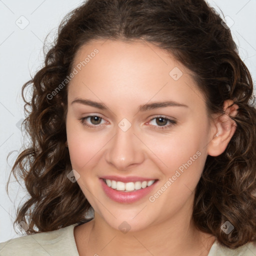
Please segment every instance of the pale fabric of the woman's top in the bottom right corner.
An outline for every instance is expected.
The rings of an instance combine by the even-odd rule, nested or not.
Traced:
[[[212,244],[208,256],[255,256],[256,242],[247,242],[236,249],[230,249],[217,240]]]

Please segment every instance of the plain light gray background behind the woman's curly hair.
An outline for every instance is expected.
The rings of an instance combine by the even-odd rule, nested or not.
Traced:
[[[20,152],[24,118],[21,86],[43,63],[42,43],[53,38],[62,17],[81,0],[0,0],[0,242],[20,236],[13,229],[15,207],[25,191],[16,182],[5,186],[11,166]],[[223,11],[239,54],[256,78],[256,0],[208,0]],[[23,17],[22,17],[23,16]],[[28,23],[29,22],[29,23]],[[26,27],[24,27],[27,24]],[[8,152],[16,150],[6,161]],[[12,179],[13,180],[13,179]]]

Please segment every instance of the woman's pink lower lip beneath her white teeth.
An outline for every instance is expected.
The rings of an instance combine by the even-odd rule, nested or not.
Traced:
[[[116,202],[124,202],[124,203],[135,202],[143,198],[154,188],[155,184],[158,181],[158,180],[154,181],[152,185],[147,186],[145,188],[141,188],[131,192],[124,192],[124,191],[115,190],[109,187],[102,178],[100,178],[99,180],[101,182],[103,190],[105,191],[106,195],[110,199]]]

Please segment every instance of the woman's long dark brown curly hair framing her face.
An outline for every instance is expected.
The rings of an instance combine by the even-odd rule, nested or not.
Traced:
[[[24,221],[26,233],[31,234],[88,220],[90,204],[77,182],[67,178],[72,169],[65,146],[68,82],[56,95],[49,95],[66,79],[75,53],[88,41],[143,39],[173,54],[195,74],[209,114],[223,113],[226,99],[238,105],[237,115],[231,117],[236,130],[225,151],[206,158],[192,221],[230,248],[255,241],[253,83],[230,29],[221,20],[204,0],[88,0],[69,12],[45,54],[44,66],[22,86],[26,114],[22,125],[31,142],[16,158],[11,173],[24,181],[29,198],[19,205],[14,223]],[[24,98],[28,85],[30,101]],[[235,227],[229,234],[220,228],[226,220]]]

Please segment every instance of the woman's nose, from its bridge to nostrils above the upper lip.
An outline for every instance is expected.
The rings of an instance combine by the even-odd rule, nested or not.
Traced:
[[[126,170],[144,160],[143,145],[133,133],[132,126],[126,131],[117,127],[108,146],[105,159],[117,170]]]

